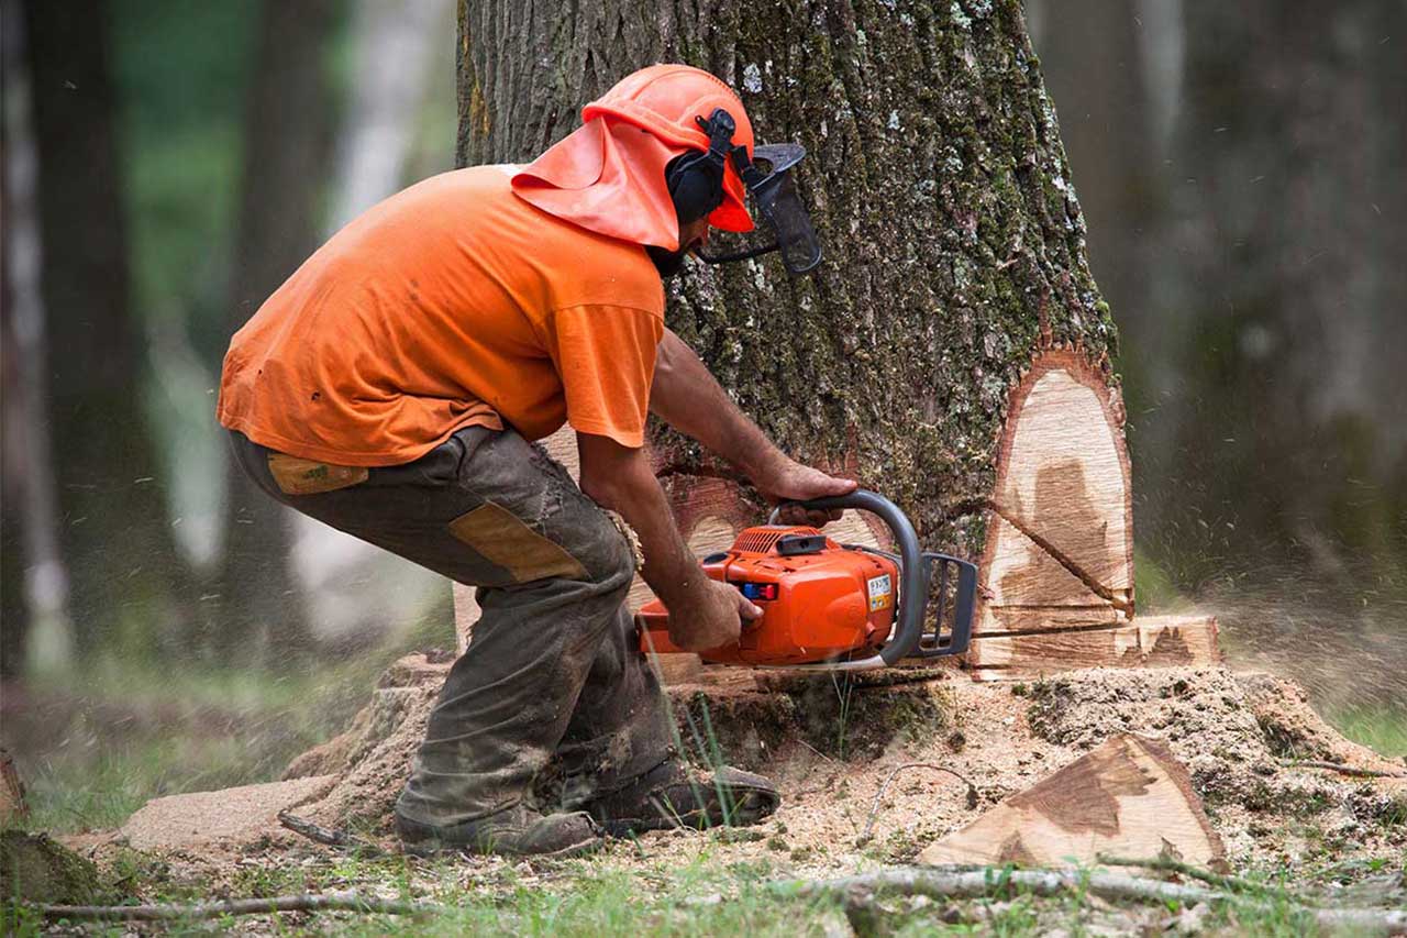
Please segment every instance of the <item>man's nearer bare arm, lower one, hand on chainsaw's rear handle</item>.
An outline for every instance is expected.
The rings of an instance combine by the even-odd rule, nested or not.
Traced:
[[[577,434],[577,449],[581,490],[619,511],[640,538],[642,576],[670,610],[671,641],[689,651],[737,641],[740,617],[757,618],[761,610],[736,589],[708,579],[689,555],[646,451],[595,434]]]

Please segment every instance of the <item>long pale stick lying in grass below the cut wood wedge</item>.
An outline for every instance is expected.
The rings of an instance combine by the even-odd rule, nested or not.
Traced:
[[[929,899],[995,899],[1013,889],[1036,896],[1090,894],[1110,901],[1135,903],[1238,903],[1265,908],[1266,903],[1217,892],[1202,886],[1180,886],[1121,873],[1081,873],[1078,870],[1024,870],[983,868],[978,870],[893,869],[832,880],[791,880],[775,883],[787,896],[839,899],[847,906],[862,906],[867,894],[927,896]],[[1331,928],[1358,928],[1375,934],[1407,930],[1407,908],[1314,908],[1290,903],[1299,914]]]

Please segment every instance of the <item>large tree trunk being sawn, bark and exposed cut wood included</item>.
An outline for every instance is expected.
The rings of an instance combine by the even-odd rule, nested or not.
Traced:
[[[1005,645],[989,659],[978,638],[974,666],[1019,670],[1013,634],[1126,625],[1116,331],[1020,4],[460,3],[460,162],[532,159],[657,61],[713,72],[763,139],[806,145],[826,246],[801,279],[692,268],[670,325],[785,451],[983,561],[979,628]],[[695,548],[763,517],[695,444],[658,427],[650,444]]]

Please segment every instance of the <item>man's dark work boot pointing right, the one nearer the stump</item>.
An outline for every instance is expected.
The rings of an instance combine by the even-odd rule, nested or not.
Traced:
[[[625,787],[585,806],[612,837],[674,827],[744,827],[781,804],[777,786],[732,766],[713,772],[678,759],[660,763]]]

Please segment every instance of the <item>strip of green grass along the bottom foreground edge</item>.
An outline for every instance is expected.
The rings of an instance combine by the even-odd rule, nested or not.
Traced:
[[[644,845],[649,849],[649,844]],[[113,876],[127,876],[141,886],[148,901],[187,903],[208,896],[208,889],[172,880],[163,865],[131,851]],[[253,861],[253,858],[250,858]],[[532,865],[502,861],[414,861],[401,856],[265,858],[246,862],[219,892],[241,897],[355,890],[404,900],[428,900],[439,910],[422,917],[362,915],[356,913],[284,914],[265,917],[170,923],[180,934],[228,930],[274,931],[287,935],[827,935],[846,924],[860,934],[886,935],[1000,935],[1034,937],[1064,934],[1140,934],[1209,931],[1235,935],[1317,934],[1287,892],[1321,892],[1330,883],[1363,876],[1396,875],[1392,865],[1373,861],[1362,869],[1344,865],[1310,869],[1276,868],[1248,875],[1266,889],[1247,897],[1216,903],[1193,913],[1178,903],[1158,906],[1112,904],[1079,889],[1054,897],[1037,897],[1013,887],[999,899],[929,900],[884,897],[851,910],[834,899],[805,899],[778,889],[791,879],[784,859],[729,862],[713,835],[699,841],[691,861],[633,861],[633,848],[619,844],[588,859]],[[1002,870],[993,870],[998,876]],[[1346,877],[1346,879],[1345,879]],[[1400,887],[1399,887],[1400,889]],[[1334,892],[1332,894],[1341,894]],[[1394,892],[1400,896],[1400,892]],[[1355,904],[1379,904],[1355,901]],[[1392,904],[1389,901],[1389,904]],[[0,907],[6,934],[38,935],[41,921],[15,906]],[[848,923],[847,923],[848,918]],[[96,934],[125,934],[111,927]]]

